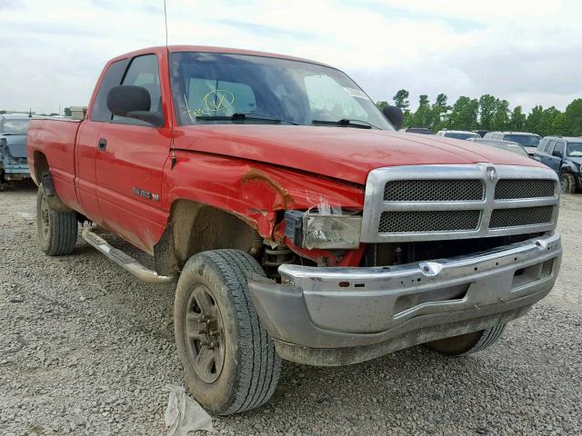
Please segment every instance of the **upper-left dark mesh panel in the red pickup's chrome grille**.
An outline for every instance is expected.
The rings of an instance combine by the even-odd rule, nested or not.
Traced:
[[[480,180],[396,180],[384,186],[385,202],[463,202],[484,197]]]

